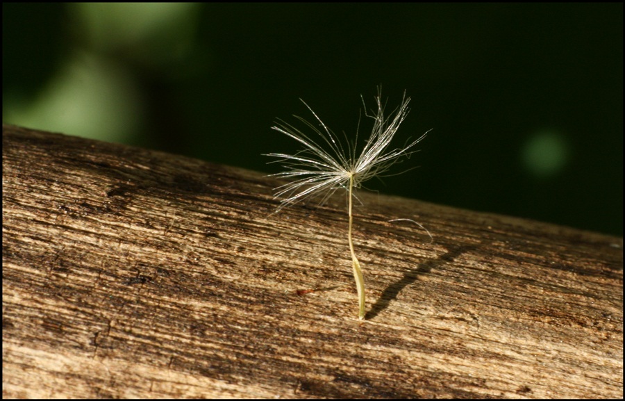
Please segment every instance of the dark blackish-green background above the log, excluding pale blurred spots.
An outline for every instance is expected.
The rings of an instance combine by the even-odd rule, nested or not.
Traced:
[[[5,122],[28,124],[11,108],[91,54],[135,91],[138,124],[115,140],[277,172],[260,154],[297,145],[275,117],[308,118],[302,98],[353,133],[382,84],[389,106],[412,97],[398,145],[433,131],[399,171],[419,168],[367,188],[622,236],[622,3],[206,4],[110,45],[72,7],[3,3]],[[522,155],[545,132],[565,161],[537,174]]]

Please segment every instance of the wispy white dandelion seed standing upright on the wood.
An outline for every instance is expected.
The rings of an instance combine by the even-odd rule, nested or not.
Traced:
[[[362,98],[362,97],[361,97]],[[281,199],[281,203],[276,209],[292,206],[305,199],[321,196],[322,203],[331,197],[338,189],[347,191],[349,226],[347,238],[349,242],[349,252],[353,268],[353,277],[356,280],[356,290],[358,290],[358,318],[365,318],[365,279],[360,270],[360,263],[353,250],[352,227],[353,227],[353,188],[358,188],[361,184],[373,177],[382,177],[392,165],[397,163],[403,156],[410,156],[417,152],[412,148],[425,138],[426,133],[403,147],[396,147],[387,150],[399,124],[408,115],[408,103],[410,97],[406,97],[404,92],[401,104],[390,117],[384,116],[384,105],[382,104],[381,88],[378,88],[376,96],[377,111],[375,115],[365,115],[374,120],[371,136],[365,147],[356,153],[356,141],[358,140],[358,130],[356,130],[356,140],[350,142],[347,138],[341,140],[326,124],[315,114],[312,108],[302,100],[302,103],[313,113],[315,120],[319,123],[312,124],[302,117],[297,120],[302,122],[308,129],[311,129],[315,137],[303,133],[292,124],[278,120],[272,129],[290,136],[303,145],[296,154],[272,153],[266,156],[276,157],[279,160],[270,163],[282,163],[286,168],[285,172],[272,174],[274,177],[294,179],[275,189],[275,197]],[[363,99],[363,104],[365,103]],[[428,233],[429,234],[429,233]]]

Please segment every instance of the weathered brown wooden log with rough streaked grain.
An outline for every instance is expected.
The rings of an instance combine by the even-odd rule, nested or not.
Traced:
[[[15,126],[2,164],[4,397],[622,398],[622,238],[361,194],[360,322],[344,197]]]

